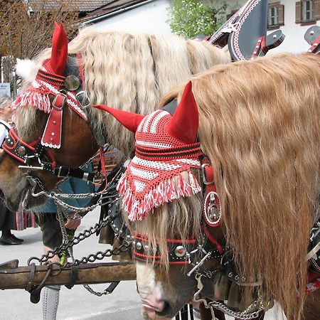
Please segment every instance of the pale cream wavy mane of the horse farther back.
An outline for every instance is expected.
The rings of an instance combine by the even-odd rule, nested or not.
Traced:
[[[228,53],[210,43],[177,36],[146,33],[80,31],[69,43],[68,53],[80,53],[85,73],[85,90],[92,104],[106,104],[122,110],[148,114],[164,93],[179,82],[218,63],[230,60]],[[38,56],[38,65],[50,50]],[[21,113],[21,116],[19,114]],[[18,132],[28,134],[34,112],[17,112]],[[129,154],[134,137],[109,114],[90,108],[93,130]],[[31,121],[30,121],[31,120]]]

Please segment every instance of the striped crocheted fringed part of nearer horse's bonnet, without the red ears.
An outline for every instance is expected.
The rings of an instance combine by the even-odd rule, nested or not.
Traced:
[[[136,156],[127,167],[118,184],[123,196],[122,206],[130,220],[142,220],[154,208],[182,196],[201,191],[191,168],[201,168],[198,154],[173,154],[177,148],[191,150],[193,144],[184,144],[171,137],[166,125],[172,118],[169,112],[157,110],[144,117],[136,132]],[[143,156],[138,150],[153,156]],[[188,172],[188,178],[181,173]]]

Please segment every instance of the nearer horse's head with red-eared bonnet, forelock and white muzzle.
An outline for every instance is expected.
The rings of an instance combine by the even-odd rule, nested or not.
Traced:
[[[218,211],[207,215],[216,225],[215,238],[209,225],[201,223],[203,188],[198,179],[203,153],[197,141],[198,107],[191,87],[188,82],[178,106],[172,107],[174,100],[171,107],[146,117],[95,105],[135,133],[136,155],[118,188],[124,210],[135,224],[137,284],[149,316],[154,312],[174,316],[197,287],[193,274],[187,275],[193,273],[196,261],[206,256],[203,267],[209,272],[220,268],[223,256],[220,216],[212,218]],[[210,203],[216,204],[218,198],[212,194]],[[177,206],[171,206],[173,201]],[[207,235],[211,242],[205,240]],[[206,291],[212,294],[209,288]]]

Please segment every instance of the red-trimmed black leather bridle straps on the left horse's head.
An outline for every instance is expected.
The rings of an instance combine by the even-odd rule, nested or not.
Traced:
[[[94,174],[92,173],[88,173],[79,168],[73,169],[69,166],[57,166],[55,158],[50,151],[51,148],[59,149],[61,146],[63,107],[65,107],[65,105],[68,105],[68,107],[74,110],[80,117],[82,117],[82,119],[85,119],[87,122],[87,117],[85,117],[85,114],[82,114],[83,112],[79,112],[77,110],[77,108],[81,110],[81,108],[87,107],[87,105],[82,105],[80,101],[78,101],[78,95],[81,95],[81,99],[83,100],[82,95],[85,92],[82,90],[83,70],[80,63],[80,55],[77,55],[77,60],[78,74],[80,76],[80,89],[77,90],[78,93],[75,92],[75,95],[65,88],[65,80],[68,77],[55,75],[54,73],[50,73],[45,70],[38,70],[38,80],[48,83],[48,85],[52,86],[53,88],[60,88],[60,90],[56,90],[57,93],[55,94],[42,137],[39,137],[39,139],[34,142],[23,142],[23,140],[18,137],[18,134],[16,134],[14,127],[11,127],[9,134],[1,147],[7,154],[13,156],[14,159],[24,164],[19,166],[20,168],[30,170],[46,170],[50,171],[59,178],[71,176],[93,182]],[[72,71],[75,72],[74,70]],[[46,91],[46,89],[43,90]],[[39,95],[41,95],[41,93],[39,93]],[[73,97],[75,97],[75,99],[73,99]],[[68,99],[73,99],[70,100],[70,104],[68,103]],[[103,154],[103,152],[100,154]],[[100,159],[103,161],[101,156]],[[36,166],[33,165],[35,160],[38,161],[38,165]],[[102,164],[102,168],[103,167],[104,166]]]

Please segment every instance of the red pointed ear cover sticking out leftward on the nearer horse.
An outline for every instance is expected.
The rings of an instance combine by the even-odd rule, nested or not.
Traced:
[[[109,107],[107,105],[93,105],[92,107],[109,112],[124,127],[126,127],[128,130],[130,130],[132,132],[137,131],[140,122],[142,122],[142,119],[144,119],[144,116],[142,114],[137,114],[134,112],[128,112],[128,111],[124,111],[124,110],[114,109],[114,108]]]

